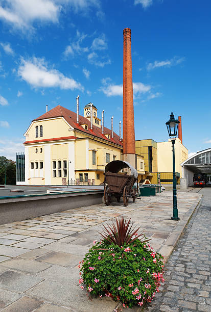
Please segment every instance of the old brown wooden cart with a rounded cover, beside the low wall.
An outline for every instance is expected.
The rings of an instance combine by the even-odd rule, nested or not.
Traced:
[[[128,172],[120,172],[124,168],[129,168]],[[135,181],[137,180],[137,171],[127,162],[113,161],[105,167],[105,179],[104,179],[104,200],[108,206],[111,203],[111,196],[115,196],[117,201],[120,201],[123,196],[124,205],[128,205],[129,197],[132,197],[135,202],[136,189],[133,188]]]

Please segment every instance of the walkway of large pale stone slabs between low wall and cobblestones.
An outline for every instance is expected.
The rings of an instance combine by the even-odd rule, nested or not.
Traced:
[[[131,218],[151,245],[166,258],[173,250],[200,194],[178,193],[180,221],[172,221],[172,192],[82,207],[0,226],[0,309],[26,311],[110,312],[117,303],[93,299],[79,288],[79,261],[102,224],[115,217]]]

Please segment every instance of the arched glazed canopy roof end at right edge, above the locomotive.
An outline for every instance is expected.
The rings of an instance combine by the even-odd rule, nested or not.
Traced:
[[[211,148],[197,152],[181,166],[196,173],[211,173]]]

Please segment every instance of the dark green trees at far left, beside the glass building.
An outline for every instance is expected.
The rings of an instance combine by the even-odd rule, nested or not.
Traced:
[[[0,156],[0,184],[16,184],[16,163],[5,156]]]

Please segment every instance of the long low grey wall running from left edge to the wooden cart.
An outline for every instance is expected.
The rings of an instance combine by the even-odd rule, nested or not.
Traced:
[[[102,191],[0,198],[0,224],[102,203]]]

